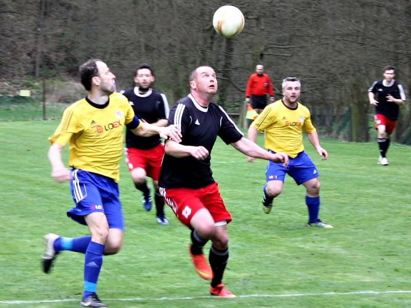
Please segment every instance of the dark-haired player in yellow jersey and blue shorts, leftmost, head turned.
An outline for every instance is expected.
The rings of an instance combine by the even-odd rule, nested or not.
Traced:
[[[103,254],[120,251],[123,242],[123,214],[119,199],[119,162],[123,150],[124,126],[142,137],[160,134],[180,142],[176,125],[154,126],[140,121],[128,100],[115,93],[115,75],[98,59],[80,66],[81,82],[88,91],[85,99],[70,105],[49,138],[51,176],[58,182],[71,181],[76,206],[67,211],[71,219],[87,225],[91,236],[78,238],[47,234],[43,271],[49,273],[55,257],[64,250],[85,254],[84,293],[80,302],[87,307],[105,307],[96,288]],[[67,169],[61,151],[69,142]]]

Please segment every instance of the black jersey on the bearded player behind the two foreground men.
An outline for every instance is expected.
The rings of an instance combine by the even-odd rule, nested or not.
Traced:
[[[160,119],[169,118],[169,103],[163,93],[150,88],[146,93],[140,94],[137,87],[120,93],[128,99],[139,119],[154,123]],[[160,144],[158,134],[151,137],[140,137],[129,129],[126,131],[125,139],[127,148],[151,149]]]

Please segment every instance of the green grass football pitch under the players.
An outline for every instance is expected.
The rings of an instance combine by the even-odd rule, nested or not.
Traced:
[[[0,307],[73,307],[81,297],[83,255],[63,252],[49,275],[40,268],[44,234],[88,234],[65,215],[72,206],[69,184],[49,175],[47,137],[57,125],[0,122]],[[169,208],[169,226],[143,210],[122,162],[125,242],[118,255],[104,258],[100,298],[121,308],[411,306],[411,148],[391,145],[390,164],[380,166],[375,142],[322,144],[328,161],[308,143],[307,150],[321,174],[321,218],[333,229],[304,227],[304,188],[291,178],[272,213],[264,214],[266,163],[247,163],[232,147],[216,144],[214,176],[233,215],[223,280],[234,299],[209,296],[187,253],[189,230]]]

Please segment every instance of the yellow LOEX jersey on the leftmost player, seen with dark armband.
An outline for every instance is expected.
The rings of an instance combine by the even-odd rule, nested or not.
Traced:
[[[118,182],[123,129],[133,119],[133,108],[122,94],[110,94],[105,105],[83,99],[67,107],[60,125],[48,140],[62,146],[70,142],[71,167]],[[141,125],[142,122],[138,127]]]

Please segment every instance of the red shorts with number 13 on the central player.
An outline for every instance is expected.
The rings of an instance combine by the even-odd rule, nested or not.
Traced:
[[[198,189],[160,187],[160,193],[178,220],[188,227],[191,227],[191,219],[201,208],[207,208],[215,222],[225,220],[229,223],[232,220],[216,182]]]

